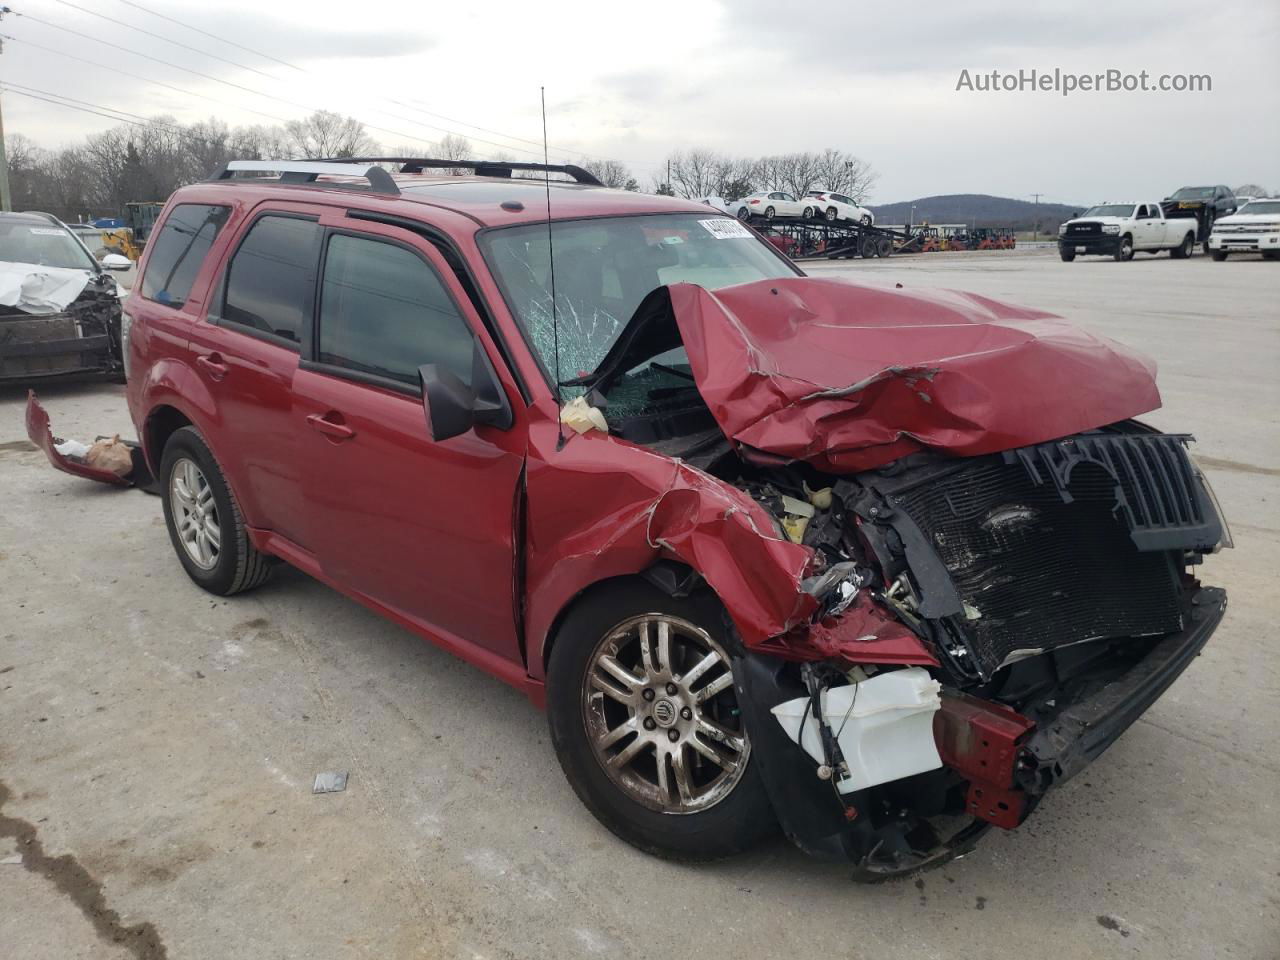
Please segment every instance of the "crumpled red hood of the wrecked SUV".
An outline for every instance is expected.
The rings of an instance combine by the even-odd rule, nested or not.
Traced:
[[[664,289],[703,399],[758,462],[993,453],[1160,406],[1140,353],[972,293],[800,276]]]

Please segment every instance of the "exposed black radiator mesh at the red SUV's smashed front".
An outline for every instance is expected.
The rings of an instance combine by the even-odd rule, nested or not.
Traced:
[[[980,457],[895,497],[968,605],[987,675],[1015,650],[1181,628],[1171,557],[1134,544],[1115,479],[1079,462],[1066,489],[1069,502],[1023,463]]]

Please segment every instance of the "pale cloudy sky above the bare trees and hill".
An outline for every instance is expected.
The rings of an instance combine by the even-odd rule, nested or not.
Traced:
[[[54,147],[115,125],[24,90],[232,125],[328,109],[388,146],[457,133],[477,156],[538,160],[544,86],[553,161],[618,160],[644,184],[675,150],[837,147],[879,173],[873,202],[1280,191],[1276,0],[138,3],[10,0],[0,83],[20,88],[3,93],[5,132]],[[1208,74],[1212,88],[957,90],[964,70],[978,86],[1032,69]]]

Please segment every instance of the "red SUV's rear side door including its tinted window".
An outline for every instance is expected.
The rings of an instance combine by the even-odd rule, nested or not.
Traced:
[[[251,526],[310,549],[293,378],[308,346],[324,207],[271,202],[246,218],[191,351],[216,404],[214,452]]]

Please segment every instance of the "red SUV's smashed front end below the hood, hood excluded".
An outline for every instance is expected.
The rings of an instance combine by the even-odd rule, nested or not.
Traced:
[[[1189,573],[1224,526],[1188,439],[1128,421],[984,457],[915,454],[836,480],[803,530],[781,493],[809,489],[801,467],[739,477],[819,567],[856,571],[842,614],[736,664],[803,849],[864,878],[955,856],[1021,823],[1185,669],[1226,605]],[[911,641],[936,659],[895,655]],[[778,655],[814,648],[822,659]]]

